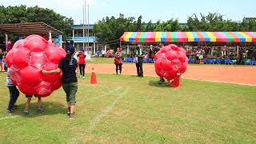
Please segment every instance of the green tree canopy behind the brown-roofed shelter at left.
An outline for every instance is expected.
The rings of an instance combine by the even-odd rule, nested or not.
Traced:
[[[0,23],[24,23],[24,22],[45,22],[54,28],[61,30],[63,38],[69,38],[72,34],[71,26],[74,24],[72,18],[66,18],[57,14],[54,10],[40,8],[38,6],[0,6]]]

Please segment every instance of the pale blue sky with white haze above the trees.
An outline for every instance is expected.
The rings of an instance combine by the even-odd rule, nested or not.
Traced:
[[[53,9],[66,17],[72,17],[74,24],[82,23],[84,0],[0,0],[3,6],[39,6]],[[224,18],[242,21],[244,17],[256,17],[256,0],[86,0],[90,6],[89,22],[93,24],[106,16],[125,17],[142,15],[142,21],[166,21],[178,18],[186,22],[192,14],[218,12]]]

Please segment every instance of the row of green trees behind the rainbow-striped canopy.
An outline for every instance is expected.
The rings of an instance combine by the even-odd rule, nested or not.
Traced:
[[[146,23],[142,21],[142,16],[136,20],[134,17],[125,18],[124,14],[120,14],[119,18],[112,16],[98,21],[94,26],[94,32],[98,42],[107,43],[118,40],[126,31],[256,31],[256,19],[244,18],[242,22],[233,22],[223,17],[218,13],[199,16],[192,14],[185,24],[174,18],[166,22],[159,20],[156,23]]]

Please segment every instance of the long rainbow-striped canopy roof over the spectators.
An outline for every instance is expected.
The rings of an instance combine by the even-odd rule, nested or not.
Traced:
[[[125,32],[121,42],[256,42],[256,32]]]

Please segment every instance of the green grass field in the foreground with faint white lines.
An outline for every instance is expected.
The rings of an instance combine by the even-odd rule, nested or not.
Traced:
[[[256,87],[182,80],[182,88],[158,86],[157,78],[98,74],[79,79],[76,118],[66,116],[62,89],[34,98],[30,116],[6,114],[6,74],[0,74],[0,143],[255,143]]]

